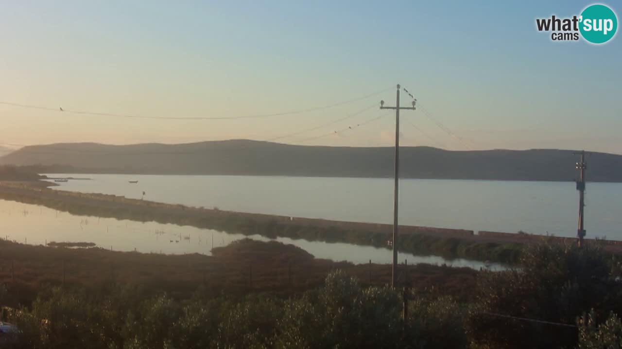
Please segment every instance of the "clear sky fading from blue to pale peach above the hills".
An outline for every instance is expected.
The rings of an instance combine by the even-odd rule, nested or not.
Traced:
[[[621,3],[604,3],[620,19]],[[0,104],[0,145],[391,146],[379,101],[394,106],[401,84],[417,98],[402,145],[622,154],[620,34],[590,45],[536,30],[589,4],[0,0],[0,102],[52,109]],[[306,112],[156,119],[290,111]]]

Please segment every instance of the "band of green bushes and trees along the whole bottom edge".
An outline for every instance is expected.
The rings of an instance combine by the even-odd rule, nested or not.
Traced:
[[[433,293],[412,294],[406,321],[401,291],[363,287],[342,271],[331,273],[323,287],[289,299],[274,294],[208,297],[202,288],[191,299],[153,296],[119,285],[98,294],[52,288],[11,315],[20,331],[2,345],[620,349],[621,270],[597,245],[538,243],[526,249],[518,268],[481,273],[470,303]],[[13,302],[0,288],[0,305]]]

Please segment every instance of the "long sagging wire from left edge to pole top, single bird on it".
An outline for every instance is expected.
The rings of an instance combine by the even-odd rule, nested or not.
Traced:
[[[355,99],[349,99],[347,101],[341,101],[333,104],[328,104],[326,106],[318,106],[312,107],[309,109],[300,109],[296,111],[287,111],[287,112],[276,112],[271,114],[257,114],[257,115],[248,115],[248,116],[233,116],[233,117],[157,117],[157,116],[139,116],[139,115],[131,115],[131,114],[112,114],[105,112],[91,112],[91,111],[74,111],[70,109],[64,109],[62,107],[44,107],[44,106],[33,106],[29,104],[19,104],[14,102],[1,102],[0,104],[4,104],[6,106],[14,106],[14,107],[22,107],[29,109],[40,109],[45,111],[54,111],[59,113],[69,113],[69,114],[79,114],[79,115],[90,115],[90,116],[111,116],[111,117],[125,117],[125,118],[134,118],[134,119],[154,119],[154,120],[238,120],[238,119],[254,119],[258,117],[271,117],[271,116],[285,116],[292,114],[302,114],[305,112],[312,111],[320,111],[323,109],[328,109],[332,107],[343,106],[344,104],[349,104],[352,102],[362,101],[363,99],[367,99],[369,97],[376,96],[378,94],[384,93],[391,88],[382,89],[381,91],[376,91],[374,93],[366,94],[363,97],[357,97]]]

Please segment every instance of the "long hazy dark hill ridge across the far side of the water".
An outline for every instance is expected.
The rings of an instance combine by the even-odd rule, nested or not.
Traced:
[[[186,144],[58,143],[24,147],[0,164],[65,173],[391,177],[392,147],[309,147],[252,140]],[[573,181],[570,150],[448,151],[401,148],[402,178]],[[622,155],[592,153],[588,181],[622,182]]]

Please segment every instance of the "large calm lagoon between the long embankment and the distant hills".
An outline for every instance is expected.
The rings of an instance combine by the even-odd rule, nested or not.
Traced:
[[[50,174],[92,178],[57,189],[115,194],[230,211],[392,222],[392,179],[270,176]],[[138,180],[137,184],[128,181]],[[578,193],[572,182],[402,179],[400,223],[573,237]],[[622,240],[622,183],[588,183],[588,237]]]

